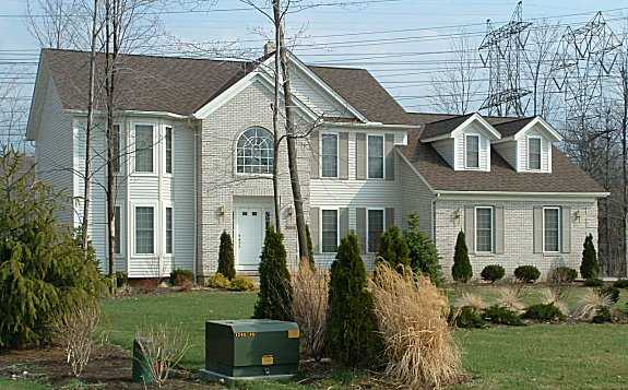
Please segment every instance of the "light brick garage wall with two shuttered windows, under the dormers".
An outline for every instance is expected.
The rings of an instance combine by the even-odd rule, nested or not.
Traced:
[[[582,244],[586,235],[592,234],[597,247],[597,203],[592,202],[547,202],[533,201],[438,201],[436,209],[437,233],[436,244],[441,256],[443,275],[451,279],[453,252],[458,233],[464,228],[464,206],[469,204],[503,206],[503,241],[502,255],[471,253],[473,277],[479,277],[484,267],[500,264],[506,269],[506,277],[511,276],[519,265],[532,264],[542,272],[541,280],[547,280],[549,271],[557,267],[570,267],[579,270],[582,261]],[[535,205],[571,208],[571,251],[569,253],[534,253],[533,250],[533,208]],[[461,215],[454,217],[457,210]],[[573,212],[580,210],[580,220],[573,217]],[[472,243],[466,243],[471,248]]]

